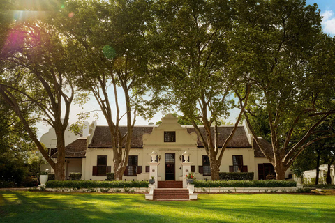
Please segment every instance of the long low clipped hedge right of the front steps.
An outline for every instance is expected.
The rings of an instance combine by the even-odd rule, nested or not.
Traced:
[[[211,181],[194,180],[194,187],[296,187],[295,181],[289,180],[229,180]]]

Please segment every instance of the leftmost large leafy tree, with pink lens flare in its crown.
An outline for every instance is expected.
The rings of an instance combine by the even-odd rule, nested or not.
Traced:
[[[70,52],[47,19],[44,16],[19,17],[3,27],[7,36],[3,38],[5,43],[1,43],[0,94],[54,169],[55,178],[64,180],[64,132],[74,98],[75,75],[68,59]],[[44,121],[54,128],[57,162],[51,159],[43,144],[38,141],[34,131],[36,120]]]

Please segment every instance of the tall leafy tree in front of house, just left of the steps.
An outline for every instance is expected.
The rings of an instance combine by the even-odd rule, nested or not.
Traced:
[[[73,47],[77,84],[94,95],[106,118],[117,180],[122,179],[128,164],[137,115],[151,116],[156,108],[153,104],[147,107],[144,98],[150,79],[151,50],[147,38],[153,21],[150,4],[142,0],[69,1],[61,10],[64,17],[55,21]],[[70,18],[69,13],[73,15]],[[124,114],[122,105],[126,108]],[[126,133],[119,130],[122,118],[126,118]]]

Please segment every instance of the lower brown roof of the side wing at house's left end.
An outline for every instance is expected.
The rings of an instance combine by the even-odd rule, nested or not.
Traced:
[[[65,157],[66,158],[84,158],[86,154],[86,138],[76,139],[72,143],[65,146]],[[57,153],[52,155],[52,158],[57,158]]]

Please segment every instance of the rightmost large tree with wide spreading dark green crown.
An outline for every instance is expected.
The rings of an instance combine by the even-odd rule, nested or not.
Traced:
[[[305,148],[334,137],[311,138],[335,111],[334,39],[321,33],[320,22],[318,7],[305,1],[237,1],[230,55],[241,61],[234,70],[250,73],[256,83],[244,116],[278,180]],[[258,107],[268,116],[274,157],[251,123]]]

